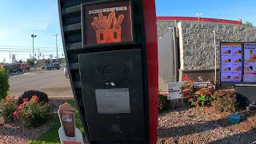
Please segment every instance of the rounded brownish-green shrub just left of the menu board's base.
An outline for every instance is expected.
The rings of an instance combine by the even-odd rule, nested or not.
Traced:
[[[236,108],[234,90],[217,90],[212,98],[212,106],[218,111],[234,111]]]

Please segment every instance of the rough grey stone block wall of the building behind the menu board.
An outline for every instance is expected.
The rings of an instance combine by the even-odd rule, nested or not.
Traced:
[[[254,27],[218,22],[179,22],[179,46],[182,70],[214,69],[214,33],[218,49],[220,42],[256,42]]]

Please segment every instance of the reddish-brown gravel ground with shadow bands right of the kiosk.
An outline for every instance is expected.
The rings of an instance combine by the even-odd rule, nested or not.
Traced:
[[[242,122],[231,125],[230,113],[213,107],[178,108],[158,117],[158,144],[253,143],[256,141],[255,111],[241,111]]]

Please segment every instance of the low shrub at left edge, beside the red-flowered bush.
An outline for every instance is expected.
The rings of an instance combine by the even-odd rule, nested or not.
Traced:
[[[0,102],[0,115],[3,122],[12,122],[14,120],[14,110],[16,109],[17,101],[12,97],[6,97]]]

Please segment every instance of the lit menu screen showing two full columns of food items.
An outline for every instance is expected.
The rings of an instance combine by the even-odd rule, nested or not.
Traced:
[[[221,82],[242,82],[242,43],[222,43],[221,60]]]

